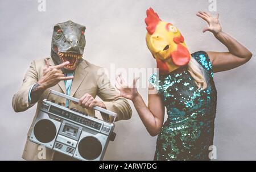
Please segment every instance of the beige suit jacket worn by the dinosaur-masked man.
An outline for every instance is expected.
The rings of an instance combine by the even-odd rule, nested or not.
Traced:
[[[55,64],[52,61],[52,58],[47,58],[49,64],[54,66]],[[15,112],[26,111],[28,108],[34,106],[34,104],[28,103],[28,92],[30,87],[34,85],[43,75],[43,69],[45,68],[46,63],[44,59],[34,60],[31,62],[30,68],[27,70],[25,77],[23,79],[22,86],[20,86],[18,92],[13,97],[13,108]],[[77,66],[74,78],[71,86],[71,96],[75,98],[81,98],[82,95],[88,93],[94,98],[96,95],[100,97],[105,104],[106,108],[110,111],[117,113],[117,120],[130,119],[131,118],[131,107],[129,103],[124,98],[114,99],[114,96],[118,92],[110,85],[108,77],[105,74],[101,73],[102,68],[90,64],[86,60],[82,60],[81,63]],[[27,136],[30,137],[32,132],[32,126],[34,126],[36,116],[39,113],[42,100],[47,98],[49,90],[56,90],[61,93],[66,93],[65,82],[60,81],[57,85],[44,91],[42,97],[38,101],[36,108],[35,116],[30,126],[30,129],[27,133]],[[62,103],[65,105],[65,99],[51,95],[48,97],[49,100],[55,100],[55,102]],[[79,111],[85,112],[91,116],[95,115],[94,110],[88,110],[82,108],[81,106],[70,102],[69,108],[76,108]],[[104,117],[104,116],[102,116]],[[105,118],[105,117],[104,117]],[[52,160],[54,151],[48,148],[42,148],[42,146],[31,142],[27,137],[26,145],[23,151],[22,158],[24,160]],[[45,150],[44,155],[42,151]]]

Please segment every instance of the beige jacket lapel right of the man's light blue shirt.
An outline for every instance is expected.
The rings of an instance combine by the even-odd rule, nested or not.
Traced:
[[[77,89],[81,85],[81,82],[84,81],[84,78],[88,74],[88,72],[85,70],[87,66],[88,64],[86,64],[85,60],[82,60],[77,66],[71,86],[71,97],[73,97],[73,95],[76,93]]]

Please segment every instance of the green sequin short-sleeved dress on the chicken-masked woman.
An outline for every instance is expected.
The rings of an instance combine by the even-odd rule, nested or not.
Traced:
[[[200,51],[192,57],[204,70],[207,89],[197,90],[187,66],[159,77],[155,73],[150,78],[151,85],[162,96],[168,114],[156,141],[154,160],[209,160],[217,91],[208,54]]]

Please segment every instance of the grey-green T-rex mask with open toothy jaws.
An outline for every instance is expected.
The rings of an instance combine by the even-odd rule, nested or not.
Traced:
[[[71,73],[76,69],[84,53],[85,26],[68,20],[58,23],[53,28],[51,57],[55,65],[69,61],[63,69],[65,73]]]

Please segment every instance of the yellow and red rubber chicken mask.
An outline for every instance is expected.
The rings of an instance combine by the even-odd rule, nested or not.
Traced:
[[[185,66],[191,59],[184,37],[171,23],[162,22],[153,9],[147,10],[146,42],[154,56],[160,74],[168,74],[172,70]]]

